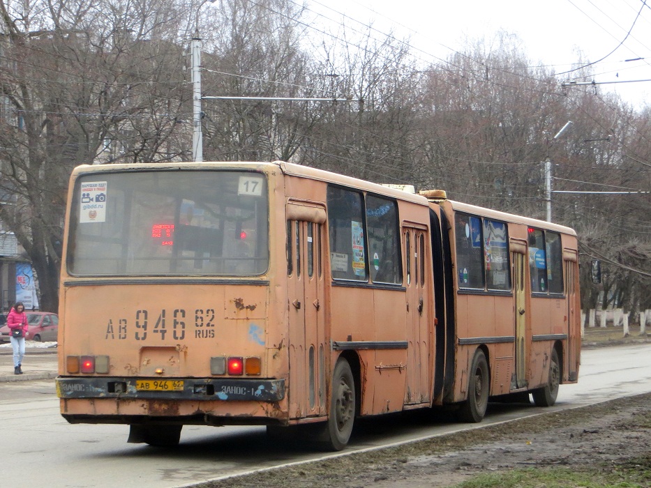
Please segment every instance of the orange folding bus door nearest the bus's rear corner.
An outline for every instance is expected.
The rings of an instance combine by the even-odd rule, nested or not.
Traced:
[[[326,413],[322,224],[287,220],[290,415]]]

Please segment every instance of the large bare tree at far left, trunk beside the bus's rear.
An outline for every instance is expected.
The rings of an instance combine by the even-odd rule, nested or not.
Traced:
[[[36,270],[44,310],[58,307],[72,168],[189,148],[178,136],[190,14],[172,0],[0,0],[0,185],[15,197],[0,219]]]

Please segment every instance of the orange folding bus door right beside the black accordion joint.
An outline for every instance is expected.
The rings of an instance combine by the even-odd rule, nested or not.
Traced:
[[[426,227],[403,227],[405,284],[407,288],[407,385],[405,404],[428,401],[429,367],[425,262],[430,243]]]

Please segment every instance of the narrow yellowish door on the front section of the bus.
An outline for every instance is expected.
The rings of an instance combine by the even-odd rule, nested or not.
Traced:
[[[525,249],[526,249],[526,245]],[[514,243],[511,241],[511,250],[514,249]],[[513,379],[511,379],[511,389],[525,388],[527,386],[527,304],[525,283],[526,269],[528,265],[525,255],[521,252],[511,252],[513,261],[513,288],[516,296],[515,301],[515,358],[516,367]]]

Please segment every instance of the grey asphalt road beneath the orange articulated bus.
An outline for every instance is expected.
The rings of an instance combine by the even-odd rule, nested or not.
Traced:
[[[36,363],[35,363],[36,365]],[[651,391],[651,345],[582,351],[580,381],[561,386],[553,410]],[[481,425],[550,409],[491,404]],[[477,428],[422,412],[360,422],[347,452]],[[0,383],[3,486],[179,487],[285,463],[328,457],[267,441],[263,427],[184,427],[176,450],[127,444],[125,425],[69,425],[52,379]],[[338,454],[342,455],[342,454]],[[21,463],[13,460],[20,457]]]

